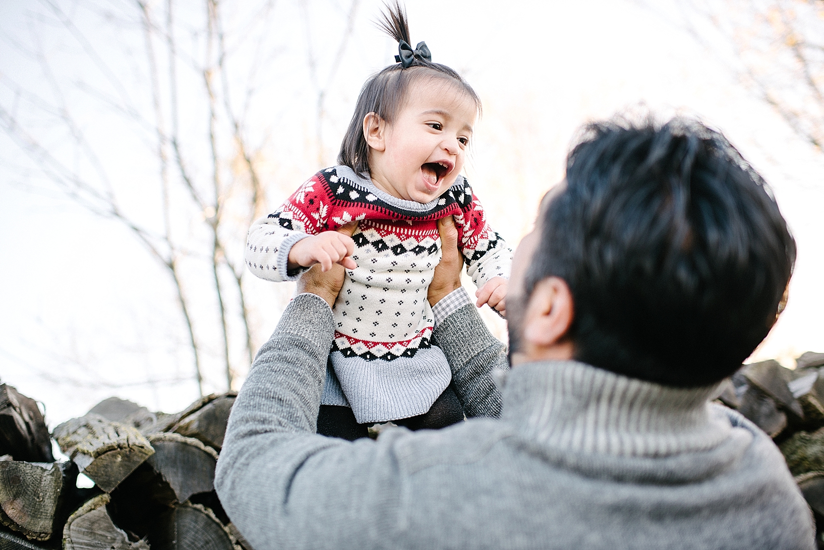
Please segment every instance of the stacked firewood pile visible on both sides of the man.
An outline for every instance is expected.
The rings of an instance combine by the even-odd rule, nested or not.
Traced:
[[[0,550],[251,550],[214,491],[235,397],[177,414],[110,398],[49,435],[37,403],[0,385]],[[779,445],[824,548],[824,353],[804,353],[795,370],[744,366],[719,401]],[[69,461],[54,461],[52,437]],[[78,473],[95,486],[78,488]]]

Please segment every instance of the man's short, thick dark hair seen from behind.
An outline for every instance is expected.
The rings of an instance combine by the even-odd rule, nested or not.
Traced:
[[[664,385],[722,380],[775,324],[795,262],[770,189],[686,119],[589,124],[527,273],[574,298],[574,356]]]

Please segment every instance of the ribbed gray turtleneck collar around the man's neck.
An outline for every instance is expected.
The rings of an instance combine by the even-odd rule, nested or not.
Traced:
[[[502,419],[556,449],[669,456],[728,438],[729,422],[709,405],[718,388],[671,388],[576,361],[533,362],[506,373]]]

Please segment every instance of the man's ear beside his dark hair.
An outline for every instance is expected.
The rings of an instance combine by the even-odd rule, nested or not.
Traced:
[[[547,277],[538,282],[523,319],[524,344],[534,359],[572,359],[569,327],[574,319],[572,292],[564,279]]]

